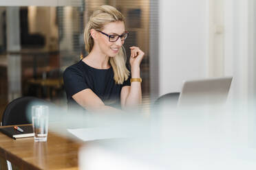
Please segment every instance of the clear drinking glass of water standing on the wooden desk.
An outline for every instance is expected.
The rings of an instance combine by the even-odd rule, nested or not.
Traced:
[[[32,106],[32,124],[35,142],[47,141],[48,116],[48,106]]]

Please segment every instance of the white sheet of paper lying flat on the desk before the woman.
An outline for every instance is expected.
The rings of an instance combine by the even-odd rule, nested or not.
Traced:
[[[68,132],[83,141],[94,141],[107,138],[128,138],[129,136],[121,130],[106,127],[89,127],[80,129],[67,129]]]

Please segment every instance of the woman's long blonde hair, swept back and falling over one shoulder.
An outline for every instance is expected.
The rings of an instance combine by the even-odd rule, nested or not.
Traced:
[[[83,38],[85,40],[85,50],[89,53],[92,51],[92,47],[94,47],[94,39],[90,34],[91,29],[102,30],[107,23],[118,21],[125,23],[125,16],[110,5],[102,5],[94,10],[94,13],[90,16],[84,31]],[[116,84],[122,84],[129,77],[130,73],[125,66],[126,60],[127,58],[124,47],[122,47],[114,58],[109,58],[109,63],[114,71],[114,80]]]

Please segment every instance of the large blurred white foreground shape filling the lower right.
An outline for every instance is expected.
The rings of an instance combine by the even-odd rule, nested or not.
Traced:
[[[151,112],[149,136],[86,143],[80,169],[255,169],[255,110],[246,110],[162,107]]]

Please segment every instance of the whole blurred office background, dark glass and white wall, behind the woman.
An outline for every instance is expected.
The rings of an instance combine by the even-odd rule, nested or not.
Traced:
[[[0,117],[35,96],[66,107],[62,73],[87,55],[83,28],[99,5],[126,17],[125,49],[145,51],[143,104],[180,92],[184,80],[233,76],[231,99],[256,95],[255,0],[1,0]]]

